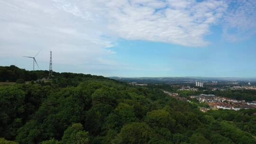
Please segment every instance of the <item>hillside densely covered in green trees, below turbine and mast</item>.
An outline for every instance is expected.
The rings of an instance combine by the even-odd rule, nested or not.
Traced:
[[[0,144],[256,144],[255,109],[203,113],[158,88],[54,75],[0,85]],[[0,67],[0,81],[46,76]]]

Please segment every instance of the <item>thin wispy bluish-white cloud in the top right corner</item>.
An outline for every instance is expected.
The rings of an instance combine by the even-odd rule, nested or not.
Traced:
[[[244,40],[256,34],[256,0],[230,0],[223,18],[224,37]]]

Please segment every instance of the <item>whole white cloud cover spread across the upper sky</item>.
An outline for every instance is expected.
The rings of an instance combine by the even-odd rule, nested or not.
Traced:
[[[44,49],[38,59],[48,62],[51,49],[57,63],[118,67],[110,58],[118,38],[209,45],[204,36],[223,14],[225,33],[255,33],[255,1],[227,8],[221,0],[0,0],[0,56]]]

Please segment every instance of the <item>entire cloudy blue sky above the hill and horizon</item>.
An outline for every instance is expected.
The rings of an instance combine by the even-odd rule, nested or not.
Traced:
[[[119,77],[256,77],[256,0],[0,0],[0,65]]]

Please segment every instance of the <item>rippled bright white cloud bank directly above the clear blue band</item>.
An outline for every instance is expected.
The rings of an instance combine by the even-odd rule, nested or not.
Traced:
[[[94,7],[99,1],[94,0]],[[204,46],[204,36],[225,8],[222,1],[106,0],[100,13],[109,19],[108,28],[124,39]]]

